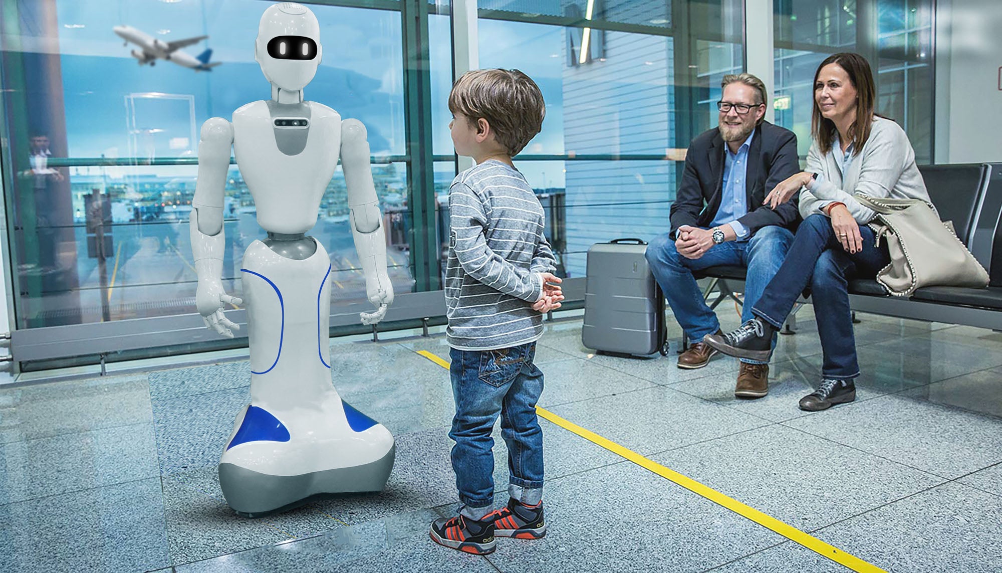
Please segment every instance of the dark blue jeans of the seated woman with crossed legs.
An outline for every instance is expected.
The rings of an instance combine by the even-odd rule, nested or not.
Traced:
[[[813,214],[801,223],[787,260],[752,312],[777,329],[810,284],[818,336],[825,353],[822,377],[848,380],[860,375],[849,308],[849,278],[874,277],[890,260],[887,245],[874,246],[874,231],[860,225],[863,249],[850,254],[835,236],[832,219]]]

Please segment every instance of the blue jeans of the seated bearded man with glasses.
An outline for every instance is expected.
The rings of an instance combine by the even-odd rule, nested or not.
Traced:
[[[752,307],[780,269],[793,241],[794,233],[789,229],[769,225],[760,228],[748,240],[714,244],[699,258],[690,259],[678,254],[674,239],[664,233],[650,241],[646,256],[678,325],[688,335],[689,342],[698,343],[703,336],[719,330],[720,322],[703,300],[692,271],[720,264],[746,266],[741,309],[741,323],[745,323],[752,320]],[[776,344],[775,338],[773,344]],[[756,363],[743,359],[741,362]]]

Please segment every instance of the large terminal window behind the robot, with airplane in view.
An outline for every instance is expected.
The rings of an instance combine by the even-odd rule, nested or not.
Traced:
[[[18,15],[3,36],[18,328],[193,312],[187,217],[198,130],[269,98],[254,54],[263,6],[44,0],[7,9]],[[324,59],[306,97],[366,124],[391,276],[409,292],[407,164],[395,160],[406,148],[400,12],[311,8]],[[180,47],[154,59],[141,38]],[[331,253],[335,297],[364,299],[344,189],[339,167],[311,234]],[[225,196],[224,278],[239,296],[243,249],[264,231],[235,165]]]

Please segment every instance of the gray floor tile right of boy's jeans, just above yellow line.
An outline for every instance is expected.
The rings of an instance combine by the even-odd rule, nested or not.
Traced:
[[[538,404],[543,408],[654,386],[628,374],[603,368],[592,361],[559,362],[540,366],[539,370],[543,372],[543,394],[539,397]]]

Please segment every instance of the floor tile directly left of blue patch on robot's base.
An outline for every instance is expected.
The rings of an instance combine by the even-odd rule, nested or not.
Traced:
[[[250,400],[246,388],[159,400],[153,403],[160,472],[214,467]]]

